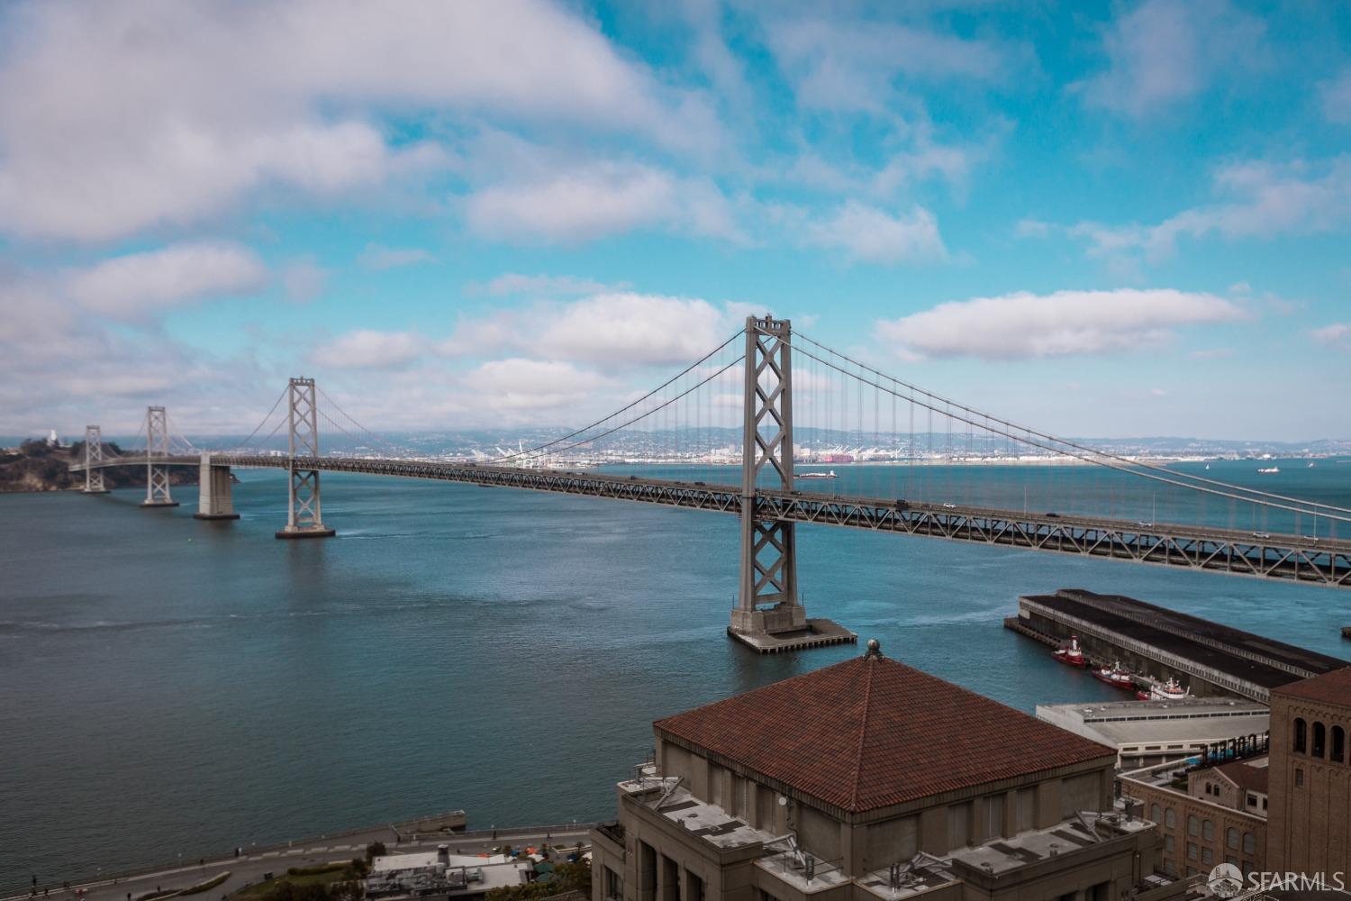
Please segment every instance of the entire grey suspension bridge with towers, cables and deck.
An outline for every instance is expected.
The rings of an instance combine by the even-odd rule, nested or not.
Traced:
[[[322,454],[320,420],[370,453]],[[277,448],[272,443],[282,430],[285,447]],[[1351,523],[1348,508],[1020,426],[888,376],[769,316],[748,317],[738,334],[619,411],[515,451],[428,458],[362,427],[312,378],[292,378],[234,447],[193,446],[170,431],[162,407],[147,409],[142,434],[143,448],[115,454],[99,426],[85,430],[84,459],[72,466],[85,473],[85,492],[105,492],[108,467],[145,466],[143,507],[176,505],[170,469],[193,466],[195,516],[238,519],[232,470],[281,469],[289,474],[288,519],[277,538],[285,539],[335,534],[322,516],[320,473],[734,515],[740,580],[728,631],[759,651],[855,640],[838,624],[807,617],[797,585],[798,524],[1351,588],[1351,540],[1337,536]],[[738,467],[739,478],[727,478]],[[954,480],[965,467],[985,477]]]

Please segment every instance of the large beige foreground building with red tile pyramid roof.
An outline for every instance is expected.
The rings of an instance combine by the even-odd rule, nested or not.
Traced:
[[[658,720],[593,829],[593,901],[1143,901],[1116,748],[869,651]]]

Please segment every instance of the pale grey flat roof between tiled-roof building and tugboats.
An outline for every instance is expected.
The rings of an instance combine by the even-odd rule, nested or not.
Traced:
[[[1116,746],[1221,742],[1262,735],[1271,723],[1265,704],[1239,698],[1039,704],[1036,716]]]

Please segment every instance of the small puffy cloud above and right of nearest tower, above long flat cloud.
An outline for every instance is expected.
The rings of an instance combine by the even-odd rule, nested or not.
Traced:
[[[827,219],[805,224],[809,244],[836,247],[851,259],[870,263],[929,262],[947,257],[938,219],[916,205],[909,213],[889,212],[850,200]]]

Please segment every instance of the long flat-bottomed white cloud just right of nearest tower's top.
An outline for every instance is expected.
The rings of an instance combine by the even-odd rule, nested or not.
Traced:
[[[1171,289],[1020,292],[881,320],[877,336],[902,354],[1024,359],[1129,351],[1170,339],[1177,327],[1243,316],[1215,294]]]

